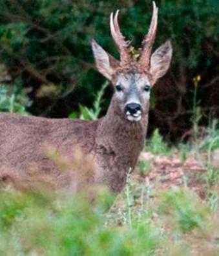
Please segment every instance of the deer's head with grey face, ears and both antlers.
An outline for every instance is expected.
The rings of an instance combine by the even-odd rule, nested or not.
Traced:
[[[135,59],[130,52],[130,42],[120,32],[118,13],[110,15],[110,30],[120,52],[120,61],[92,40],[96,67],[114,85],[114,103],[127,120],[138,122],[149,109],[151,87],[169,69],[172,57],[171,41],[163,43],[152,55],[156,37],[158,8],[153,2],[149,32],[144,37],[140,56]]]

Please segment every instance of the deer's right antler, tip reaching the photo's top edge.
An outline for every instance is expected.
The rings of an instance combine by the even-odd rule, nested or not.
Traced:
[[[149,67],[150,64],[150,57],[151,57],[151,51],[152,47],[154,45],[154,40],[156,37],[156,28],[158,25],[158,7],[156,7],[155,2],[153,1],[153,14],[151,19],[151,25],[149,27],[149,32],[145,36],[145,38],[142,41],[142,50],[141,55],[139,59],[139,63],[143,65],[146,69]]]

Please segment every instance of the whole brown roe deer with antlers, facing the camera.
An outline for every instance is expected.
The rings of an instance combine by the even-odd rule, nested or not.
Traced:
[[[69,158],[76,149],[90,156],[94,173],[90,182],[103,184],[119,192],[125,186],[127,172],[134,169],[145,144],[151,87],[169,69],[171,42],[161,45],[152,55],[156,37],[158,8],[153,2],[149,32],[143,39],[140,56],[133,58],[129,42],[120,32],[118,11],[110,15],[110,31],[120,52],[114,59],[96,41],[92,50],[96,67],[114,85],[114,95],[107,114],[97,121],[48,119],[0,114],[0,178],[22,180],[31,164],[38,166],[38,176],[54,176],[60,170],[43,152],[43,144],[52,145]],[[30,183],[34,175],[29,176]],[[63,182],[60,186],[67,186]]]

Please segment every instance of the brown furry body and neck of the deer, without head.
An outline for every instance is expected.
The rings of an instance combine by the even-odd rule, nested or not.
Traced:
[[[129,168],[134,169],[143,148],[146,127],[147,116],[141,122],[129,122],[114,108],[114,99],[107,115],[95,122],[1,113],[1,181],[9,180],[15,187],[28,181],[32,186],[39,177],[45,181],[51,176],[56,187],[70,186],[69,176],[63,178],[62,170],[45,154],[43,147],[48,144],[68,158],[80,148],[94,160],[95,172],[89,182],[121,191]],[[33,166],[37,166],[37,173],[36,168],[31,172]]]

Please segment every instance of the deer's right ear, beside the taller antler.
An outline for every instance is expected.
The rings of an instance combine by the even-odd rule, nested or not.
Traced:
[[[152,75],[153,84],[161,78],[171,63],[172,45],[171,41],[163,43],[151,56],[150,73]]]

